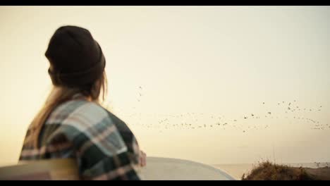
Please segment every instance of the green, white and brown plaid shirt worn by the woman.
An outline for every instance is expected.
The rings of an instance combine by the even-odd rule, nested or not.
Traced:
[[[27,130],[27,136],[29,135]],[[82,179],[140,180],[139,147],[126,123],[98,104],[73,99],[58,106],[20,160],[76,159]]]

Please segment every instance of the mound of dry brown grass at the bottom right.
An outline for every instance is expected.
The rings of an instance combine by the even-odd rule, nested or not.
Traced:
[[[281,166],[269,161],[259,163],[242,180],[317,180],[314,175],[307,173],[305,168]]]

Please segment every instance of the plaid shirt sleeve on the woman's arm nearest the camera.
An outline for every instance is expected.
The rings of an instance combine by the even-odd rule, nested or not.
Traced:
[[[80,129],[79,135],[75,135],[73,144],[82,179],[140,180],[136,171],[138,164],[131,158],[111,118],[102,118],[92,125],[92,120],[80,119],[80,128],[83,130]]]

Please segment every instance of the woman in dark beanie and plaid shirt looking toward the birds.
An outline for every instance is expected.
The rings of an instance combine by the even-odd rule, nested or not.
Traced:
[[[82,179],[140,180],[135,166],[145,166],[145,154],[127,125],[99,105],[106,61],[90,32],[59,27],[45,56],[54,89],[27,130],[20,160],[71,158]]]

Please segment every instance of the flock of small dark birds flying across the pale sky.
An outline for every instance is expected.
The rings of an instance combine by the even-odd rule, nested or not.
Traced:
[[[138,87],[138,98],[140,102],[142,98],[142,87]],[[268,104],[269,105],[269,104]],[[262,102],[262,106],[267,106],[266,102]],[[313,113],[314,111],[322,111],[322,106],[316,108],[305,108],[300,107],[296,100],[293,101],[281,101],[277,103],[277,106],[282,106],[282,112],[279,111],[264,111],[261,113],[249,113],[238,118],[226,118],[225,116],[216,116],[214,114],[207,113],[180,113],[180,114],[154,114],[147,115],[142,113],[130,113],[126,118],[133,118],[131,125],[139,125],[144,128],[157,128],[159,132],[171,128],[184,129],[184,130],[196,130],[202,128],[234,128],[241,130],[242,132],[248,132],[250,130],[262,130],[270,128],[270,124],[263,125],[248,125],[245,123],[246,120],[258,120],[258,119],[293,119],[300,123],[312,124],[313,130],[326,130],[330,129],[329,124],[321,124],[318,120],[312,118],[302,117],[306,113]],[[133,108],[135,109],[135,107]],[[266,108],[264,108],[266,109]],[[144,118],[145,121],[142,121]],[[147,119],[147,121],[146,121]],[[255,122],[254,122],[255,123]]]

